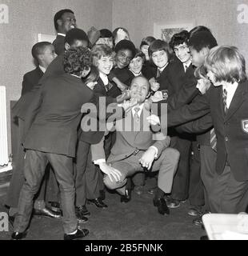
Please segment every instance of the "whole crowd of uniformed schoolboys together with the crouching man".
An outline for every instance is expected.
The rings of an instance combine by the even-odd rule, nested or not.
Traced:
[[[248,88],[237,48],[218,46],[197,26],[170,42],[148,36],[137,49],[125,28],[86,34],[67,9],[54,26],[53,44],[33,46],[38,66],[14,106],[20,141],[6,202],[13,239],[26,236],[32,214],[62,217],[66,240],[85,237],[78,223],[88,221],[86,202],[106,208],[106,187],[121,202],[132,190],[154,194],[163,215],[189,200],[196,225],[206,213],[246,211]],[[95,130],[85,129],[88,102],[97,109]],[[107,106],[116,112],[102,120]],[[101,122],[115,129],[99,130]],[[150,190],[147,170],[158,170]]]

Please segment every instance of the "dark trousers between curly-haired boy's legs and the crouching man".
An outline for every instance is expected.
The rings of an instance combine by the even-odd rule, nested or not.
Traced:
[[[99,171],[91,157],[90,144],[78,141],[77,156],[74,164],[76,206],[84,206],[86,198],[99,197]]]

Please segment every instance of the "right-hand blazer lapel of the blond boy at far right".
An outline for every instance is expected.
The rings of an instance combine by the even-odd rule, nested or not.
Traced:
[[[238,110],[239,106],[244,102],[244,94],[247,92],[247,82],[238,84],[237,90],[235,91],[234,98],[230,102],[229,109],[226,112],[226,121]],[[222,104],[223,105],[223,104]]]

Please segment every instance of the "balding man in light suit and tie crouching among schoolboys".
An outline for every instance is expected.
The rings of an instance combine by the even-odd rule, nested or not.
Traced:
[[[116,171],[112,171],[112,178],[106,175],[104,183],[110,190],[118,190],[124,202],[130,198],[130,191],[126,190],[127,177],[145,170],[158,170],[158,191],[154,197],[154,206],[158,207],[159,214],[170,214],[163,196],[171,191],[179,153],[169,147],[170,137],[150,130],[150,124],[146,121],[150,110],[146,109],[145,102],[149,92],[150,83],[146,78],[139,76],[133,79],[130,96],[138,104],[126,113],[126,118],[115,123],[116,142],[107,163],[103,146],[99,144],[91,146],[92,160],[105,174],[113,169]]]

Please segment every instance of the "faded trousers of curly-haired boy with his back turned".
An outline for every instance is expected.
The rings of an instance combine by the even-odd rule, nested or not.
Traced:
[[[22,186],[18,214],[14,219],[14,232],[24,232],[30,222],[33,199],[45,173],[47,163],[54,168],[61,193],[63,227],[66,234],[77,230],[78,219],[74,209],[73,159],[61,154],[27,150],[24,162],[25,183]]]

